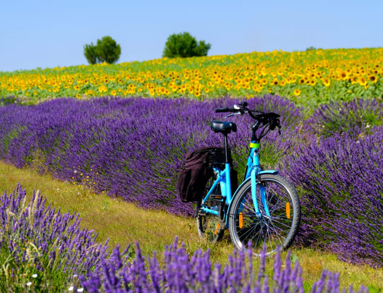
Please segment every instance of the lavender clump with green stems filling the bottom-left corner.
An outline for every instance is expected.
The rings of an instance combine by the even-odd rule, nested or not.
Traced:
[[[75,214],[62,214],[39,193],[27,201],[25,190],[0,198],[0,291],[60,291],[79,285],[77,275],[108,259],[107,244],[80,228]]]

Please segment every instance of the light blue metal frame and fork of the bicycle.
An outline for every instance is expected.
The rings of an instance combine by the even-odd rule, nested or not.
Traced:
[[[262,217],[262,214],[259,211],[257,197],[256,197],[257,177],[260,174],[274,174],[274,175],[276,175],[276,174],[278,174],[278,171],[275,171],[275,170],[263,170],[262,171],[261,170],[261,168],[259,166],[259,143],[257,143],[256,141],[252,141],[250,144],[250,154],[249,154],[248,161],[247,161],[245,180],[237,188],[237,190],[235,191],[233,196],[231,196],[230,164],[229,163],[225,164],[225,170],[220,170],[216,167],[213,167],[213,170],[215,172],[217,172],[218,178],[216,179],[216,181],[213,182],[210,190],[208,191],[208,193],[206,194],[205,198],[202,201],[202,204],[201,204],[202,209],[205,212],[208,212],[208,213],[216,215],[216,216],[218,216],[218,214],[219,214],[218,210],[214,210],[214,209],[207,208],[206,206],[204,206],[205,201],[209,198],[211,192],[214,190],[214,188],[216,188],[218,183],[220,183],[220,185],[221,185],[222,196],[226,197],[225,205],[228,205],[227,210],[230,210],[232,200],[237,195],[237,191],[241,188],[241,186],[243,184],[245,184],[246,182],[251,180],[251,196],[252,196],[252,200],[253,200],[253,204],[254,204],[254,210],[255,210],[255,213],[258,217]],[[227,178],[229,178],[229,180],[227,180]],[[260,185],[259,190],[260,190],[261,203],[262,203],[262,206],[264,207],[265,215],[267,217],[270,217],[269,207],[268,207],[268,204],[266,201],[266,196],[265,196],[265,187],[263,185]],[[227,217],[227,213],[225,215],[225,218],[226,218],[225,219],[226,227],[228,228],[229,227],[229,222],[228,222],[229,220]]]

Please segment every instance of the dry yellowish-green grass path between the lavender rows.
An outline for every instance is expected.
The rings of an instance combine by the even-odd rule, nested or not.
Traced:
[[[109,238],[110,247],[138,242],[143,255],[151,256],[155,250],[161,255],[164,245],[171,244],[175,236],[184,242],[189,253],[198,248],[210,249],[212,262],[225,263],[227,255],[232,253],[233,245],[228,232],[218,245],[208,244],[199,239],[194,219],[169,215],[165,211],[143,210],[119,199],[94,194],[83,187],[52,178],[50,175],[38,175],[33,170],[17,169],[0,162],[0,192],[15,189],[21,183],[31,196],[32,190],[39,189],[47,203],[67,210],[79,212],[81,225],[99,233],[98,241]],[[303,267],[305,290],[308,291],[322,270],[340,273],[341,287],[361,284],[370,286],[371,291],[379,292],[383,284],[383,268],[372,269],[366,265],[352,265],[340,261],[336,255],[314,248],[292,247],[292,260],[298,260]],[[284,258],[285,253],[282,257]],[[267,259],[267,271],[272,272],[273,259]],[[375,289],[374,289],[375,288]],[[381,292],[381,289],[380,289]]]

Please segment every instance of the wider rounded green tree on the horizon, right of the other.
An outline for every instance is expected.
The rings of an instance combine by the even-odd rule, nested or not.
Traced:
[[[170,35],[165,43],[165,48],[162,52],[162,57],[167,58],[186,58],[194,56],[206,56],[211,45],[205,41],[197,42],[196,38],[189,33]]]

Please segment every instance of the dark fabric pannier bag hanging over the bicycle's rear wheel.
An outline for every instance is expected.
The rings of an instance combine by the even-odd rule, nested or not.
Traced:
[[[229,155],[230,166],[231,156]],[[178,178],[178,190],[182,202],[202,200],[207,181],[213,175],[212,166],[225,166],[224,147],[201,147],[185,155],[185,168]],[[237,188],[237,172],[231,168],[230,181],[232,193]]]

